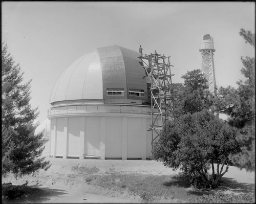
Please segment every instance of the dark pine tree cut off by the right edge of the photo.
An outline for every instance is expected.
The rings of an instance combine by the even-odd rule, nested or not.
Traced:
[[[241,29],[245,42],[255,46],[255,34]],[[255,58],[241,57],[241,73],[245,81],[238,81],[238,88],[220,87],[216,107],[229,116],[229,125],[239,129],[237,140],[241,151],[232,156],[232,163],[246,170],[255,169]]]

